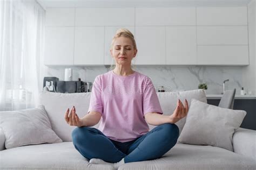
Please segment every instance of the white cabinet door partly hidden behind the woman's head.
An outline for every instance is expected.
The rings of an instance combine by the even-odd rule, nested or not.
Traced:
[[[131,31],[133,36],[134,33],[134,26],[106,26],[105,27],[105,48],[104,48],[104,65],[114,65],[115,61],[112,59],[110,54],[110,47],[112,43],[112,38],[116,34],[117,30],[120,28],[125,28]]]

